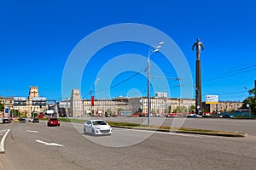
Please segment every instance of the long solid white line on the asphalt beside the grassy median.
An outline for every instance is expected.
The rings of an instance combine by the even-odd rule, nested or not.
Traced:
[[[169,135],[175,135],[175,136],[185,136],[185,137],[196,137],[196,138],[203,138],[203,136],[198,134],[188,134],[188,133],[172,133],[172,132],[160,132],[160,131],[149,131],[149,130],[139,130],[139,129],[131,129],[131,128],[119,128],[119,127],[113,127],[116,130],[124,130],[124,131],[137,131],[137,132],[145,132],[145,133],[160,133],[160,134],[169,134]]]

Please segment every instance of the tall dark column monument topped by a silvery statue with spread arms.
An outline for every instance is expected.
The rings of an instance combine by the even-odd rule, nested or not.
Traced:
[[[200,42],[200,39],[197,38],[196,42],[192,46],[192,50],[194,51],[196,48],[196,89],[195,89],[195,113],[199,114],[201,111],[201,60],[200,54],[201,50],[204,50],[204,45]]]

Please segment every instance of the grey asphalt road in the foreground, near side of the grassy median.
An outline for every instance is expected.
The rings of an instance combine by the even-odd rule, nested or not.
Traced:
[[[194,120],[188,123],[193,124]],[[211,126],[217,125],[212,122]],[[232,126],[240,125],[234,122]],[[0,125],[0,130],[6,129],[10,131],[0,161],[7,170],[256,167],[253,134],[229,138],[114,128],[111,136],[94,137],[83,134],[83,125],[61,123],[61,127],[47,127],[46,122]]]

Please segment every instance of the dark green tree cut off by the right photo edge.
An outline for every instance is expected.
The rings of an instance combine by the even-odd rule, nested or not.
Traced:
[[[248,90],[249,96],[247,99],[244,99],[241,105],[241,109],[246,109],[247,104],[250,107],[251,113],[256,115],[256,88]]]

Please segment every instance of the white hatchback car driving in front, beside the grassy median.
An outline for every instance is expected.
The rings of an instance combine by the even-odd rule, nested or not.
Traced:
[[[112,134],[112,127],[103,120],[90,120],[84,123],[84,133],[91,135]]]

